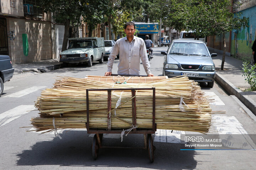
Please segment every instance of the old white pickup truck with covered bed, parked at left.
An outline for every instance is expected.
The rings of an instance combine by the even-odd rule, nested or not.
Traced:
[[[60,62],[87,63],[92,66],[93,61],[103,63],[105,55],[104,38],[86,37],[69,38],[68,49],[60,53]]]

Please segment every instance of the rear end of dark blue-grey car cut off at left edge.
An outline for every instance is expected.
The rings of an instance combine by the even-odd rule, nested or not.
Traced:
[[[11,65],[9,56],[0,55],[0,96],[4,91],[4,83],[9,81],[14,74],[14,68]]]

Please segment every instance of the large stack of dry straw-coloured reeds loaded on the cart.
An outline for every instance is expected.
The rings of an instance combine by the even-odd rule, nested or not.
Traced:
[[[144,78],[144,77],[143,77]],[[101,81],[101,79],[103,81]],[[35,106],[39,117],[32,118],[37,131],[65,128],[86,128],[86,89],[156,89],[155,123],[158,129],[208,132],[212,109],[209,100],[196,82],[187,77],[160,80],[147,79],[146,83],[115,84],[113,77],[97,80],[63,77],[54,87],[43,90]],[[134,79],[135,80],[135,79]],[[145,79],[144,79],[145,80]],[[143,80],[143,81],[144,81]],[[125,81],[125,80],[124,80]],[[138,80],[136,80],[139,82]],[[114,109],[121,96],[121,104]],[[107,129],[107,91],[89,91],[90,128]],[[130,91],[112,91],[111,128],[126,129],[132,124],[132,94]],[[136,121],[138,128],[152,128],[152,90],[136,91]],[[54,118],[54,119],[53,119]]]

